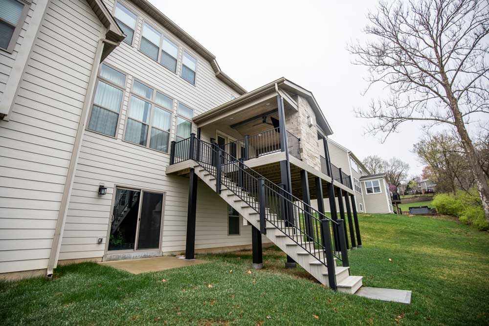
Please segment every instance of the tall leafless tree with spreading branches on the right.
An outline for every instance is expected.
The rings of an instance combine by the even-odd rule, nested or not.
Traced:
[[[489,220],[488,178],[465,126],[474,113],[489,112],[489,1],[380,2],[368,19],[373,41],[349,50],[368,67],[369,88],[381,83],[390,96],[357,115],[386,136],[405,121],[454,126]]]

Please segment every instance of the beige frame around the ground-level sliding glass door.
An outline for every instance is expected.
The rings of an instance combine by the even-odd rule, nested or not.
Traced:
[[[136,224],[136,235],[134,238],[134,249],[132,250],[109,250],[109,241],[111,237],[111,224],[112,224],[112,216],[113,216],[113,211],[114,211],[114,204],[115,204],[115,196],[117,195],[117,189],[122,189],[122,190],[131,190],[131,191],[138,191],[140,192],[140,197],[139,197],[139,206],[137,208],[137,224]],[[153,193],[153,194],[160,194],[163,195],[163,202],[161,204],[161,222],[159,226],[159,244],[158,248],[152,248],[152,249],[137,249],[137,241],[139,239],[139,222],[141,219],[141,207],[143,205],[143,196],[144,192],[147,193]],[[165,217],[165,203],[166,203],[166,191],[159,191],[159,190],[154,190],[154,189],[147,189],[147,188],[133,188],[133,187],[127,187],[123,185],[114,185],[113,188],[113,193],[112,193],[112,199],[111,199],[111,211],[109,215],[109,223],[107,224],[107,236],[105,239],[105,254],[106,255],[112,255],[112,254],[136,254],[138,252],[154,252],[154,251],[162,251],[161,245],[162,245],[162,235],[163,235],[163,222],[164,222],[164,217]]]

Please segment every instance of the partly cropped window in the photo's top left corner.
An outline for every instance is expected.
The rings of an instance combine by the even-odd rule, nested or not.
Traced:
[[[30,1],[0,0],[0,48],[12,52],[21,33]]]

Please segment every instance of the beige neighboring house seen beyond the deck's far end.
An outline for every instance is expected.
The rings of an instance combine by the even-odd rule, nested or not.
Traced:
[[[338,170],[341,169],[342,172],[351,175],[358,211],[364,213],[394,212],[385,174],[371,175],[352,151],[330,138],[328,138],[328,148],[331,163]],[[321,155],[324,155],[324,151]],[[329,205],[326,210],[330,211]]]

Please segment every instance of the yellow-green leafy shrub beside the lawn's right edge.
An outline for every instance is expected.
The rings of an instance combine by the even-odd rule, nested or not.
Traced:
[[[489,223],[475,189],[472,189],[470,194],[459,191],[456,195],[436,195],[433,198],[433,206],[438,213],[458,217],[463,223],[474,225],[479,230],[489,230]]]

